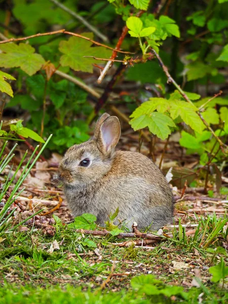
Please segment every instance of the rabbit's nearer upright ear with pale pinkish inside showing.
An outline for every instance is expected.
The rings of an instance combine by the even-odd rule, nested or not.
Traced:
[[[121,126],[116,116],[106,118],[100,127],[97,137],[99,149],[104,153],[110,153],[117,145],[121,134]]]

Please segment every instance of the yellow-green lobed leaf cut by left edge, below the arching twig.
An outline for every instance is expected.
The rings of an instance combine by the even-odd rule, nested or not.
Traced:
[[[35,49],[28,44],[8,43],[0,46],[3,51],[0,54],[0,66],[3,67],[20,67],[29,76],[33,75],[45,63],[40,54],[34,53]]]

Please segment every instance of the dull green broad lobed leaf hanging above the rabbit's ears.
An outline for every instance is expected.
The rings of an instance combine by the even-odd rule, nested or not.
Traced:
[[[82,33],[83,36],[93,39],[93,33]],[[101,60],[95,60],[84,56],[94,56],[104,59],[109,59],[112,51],[103,47],[93,47],[92,42],[80,37],[70,37],[68,41],[61,41],[59,50],[64,55],[60,58],[62,66],[69,66],[75,71],[93,72],[93,63],[104,63]]]

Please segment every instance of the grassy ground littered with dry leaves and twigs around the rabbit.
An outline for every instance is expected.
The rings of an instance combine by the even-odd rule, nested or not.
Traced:
[[[137,150],[137,138],[132,134],[128,134],[129,137],[133,144],[129,148],[128,143],[122,140],[122,148]],[[177,163],[173,159],[179,149],[175,139],[169,145],[163,168]],[[158,143],[156,147],[159,154],[163,143]],[[21,147],[19,149],[21,153]],[[146,151],[147,147],[142,145],[141,152]],[[5,303],[17,302],[16,296],[18,302],[30,303],[25,300],[31,295],[34,296],[34,301],[43,303],[52,292],[56,292],[59,298],[55,301],[48,298],[49,302],[62,302],[60,294],[69,292],[66,291],[68,284],[76,290],[81,287],[83,292],[91,289],[93,295],[98,291],[102,294],[106,291],[117,295],[123,292],[128,294],[133,286],[131,279],[143,274],[151,274],[161,280],[161,283],[154,283],[156,288],[160,288],[159,284],[182,286],[188,294],[188,298],[182,296],[183,302],[225,303],[228,299],[227,281],[223,282],[223,286],[221,283],[212,283],[208,271],[219,262],[221,256],[225,263],[228,262],[227,203],[222,202],[224,196],[214,193],[211,198],[205,195],[203,181],[200,179],[197,180],[197,187],[184,187],[186,172],[179,172],[174,183],[178,185],[179,182],[182,188],[173,185],[176,200],[175,226],[164,227],[162,240],[146,244],[146,241],[143,243],[143,239],[138,238],[87,235],[83,230],[77,231],[67,224],[72,216],[56,181],[60,158],[53,154],[48,161],[36,163],[24,182],[26,189],[17,198],[17,210],[11,220],[18,222],[26,219],[40,209],[43,209],[42,215],[36,215],[19,227],[17,232],[5,234],[0,239],[0,296]],[[191,158],[192,156],[183,156],[178,163],[184,165],[184,170],[192,170],[196,159]],[[227,184],[226,177],[222,177],[222,183]],[[210,180],[208,187],[213,189]],[[216,232],[221,221],[223,226]],[[100,230],[99,227],[97,229]],[[136,245],[132,245],[132,240]],[[12,290],[13,293],[10,292]],[[43,293],[46,293],[46,297],[42,297]],[[16,294],[15,297],[12,294]],[[139,295],[131,293],[129,298],[132,302],[133,299],[135,302],[143,299],[146,301],[144,293],[140,301],[137,296]],[[68,300],[71,297],[73,298],[69,293]],[[121,302],[115,300],[115,297],[112,299],[113,303]],[[169,303],[177,299],[178,296],[172,295],[163,298],[161,302]],[[106,303],[101,298],[98,302]]]

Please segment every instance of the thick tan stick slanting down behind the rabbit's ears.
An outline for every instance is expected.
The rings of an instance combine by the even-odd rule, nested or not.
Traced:
[[[55,73],[57,75],[59,75],[60,77],[64,78],[64,79],[67,79],[68,81],[74,83],[75,85],[79,86],[80,88],[82,88],[83,90],[87,91],[88,93],[90,93],[92,96],[96,97],[96,98],[100,98],[101,97],[101,94],[98,93],[97,91],[95,91],[93,88],[87,86],[86,84],[84,84],[83,82],[79,81],[78,79],[64,73],[64,72],[61,72],[59,70],[56,70]],[[122,113],[116,106],[114,105],[111,105],[110,106],[110,109],[112,112],[114,112],[118,117],[120,117],[123,121],[125,122],[129,122],[129,118],[124,114]],[[145,132],[142,132],[142,136],[149,142],[150,141],[150,138],[147,134],[145,134]]]

